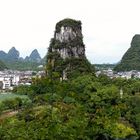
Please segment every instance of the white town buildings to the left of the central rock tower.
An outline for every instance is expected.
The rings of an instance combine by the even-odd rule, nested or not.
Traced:
[[[31,85],[33,77],[41,77],[44,71],[0,71],[0,90],[12,90],[18,85]]]

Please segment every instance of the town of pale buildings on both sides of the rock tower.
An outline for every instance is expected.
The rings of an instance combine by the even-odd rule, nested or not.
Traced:
[[[45,74],[44,71],[17,71],[17,70],[4,70],[0,71],[0,91],[13,90],[15,86],[19,85],[31,85],[32,78],[42,77]],[[126,72],[115,72],[112,69],[99,70],[96,72],[98,77],[100,74],[107,75],[112,78],[140,78],[140,71],[132,70]]]

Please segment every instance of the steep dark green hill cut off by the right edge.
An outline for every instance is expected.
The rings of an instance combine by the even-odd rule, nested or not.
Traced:
[[[140,70],[140,35],[136,34],[131,47],[123,55],[121,62],[115,67],[116,71]]]

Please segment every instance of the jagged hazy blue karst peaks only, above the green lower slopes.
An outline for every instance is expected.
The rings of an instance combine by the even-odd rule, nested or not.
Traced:
[[[20,57],[20,52],[15,48],[12,47],[8,53],[4,51],[0,51],[0,60],[2,61],[26,61],[26,62],[41,62],[40,54],[38,53],[37,49],[34,49],[30,56],[26,56],[25,59]]]

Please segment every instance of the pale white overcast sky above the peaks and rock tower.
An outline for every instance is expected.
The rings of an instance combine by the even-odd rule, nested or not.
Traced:
[[[0,0],[0,50],[47,53],[55,25],[81,20],[91,63],[117,63],[140,34],[140,0]]]

